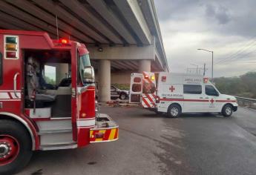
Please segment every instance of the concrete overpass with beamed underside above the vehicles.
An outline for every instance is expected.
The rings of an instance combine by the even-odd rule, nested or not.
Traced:
[[[153,0],[0,1],[0,28],[44,30],[84,42],[99,82],[99,101],[111,83],[127,84],[131,72],[168,71]]]

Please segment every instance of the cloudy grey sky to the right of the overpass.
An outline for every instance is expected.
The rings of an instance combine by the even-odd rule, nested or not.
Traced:
[[[214,77],[256,70],[255,0],[154,0],[172,72],[208,68]],[[192,64],[192,65],[191,65]]]

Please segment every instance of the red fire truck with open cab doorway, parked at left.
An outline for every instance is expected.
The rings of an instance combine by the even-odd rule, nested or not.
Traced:
[[[116,139],[118,125],[97,112],[85,44],[0,30],[0,174],[19,171],[36,150]]]

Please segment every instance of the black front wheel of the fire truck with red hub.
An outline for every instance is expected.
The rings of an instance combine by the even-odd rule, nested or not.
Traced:
[[[19,122],[0,120],[0,174],[22,169],[32,156],[31,139]]]

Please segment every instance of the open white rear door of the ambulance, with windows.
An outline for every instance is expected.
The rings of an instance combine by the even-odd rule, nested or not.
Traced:
[[[130,103],[140,103],[142,96],[142,74],[131,73],[131,84],[129,93]]]

